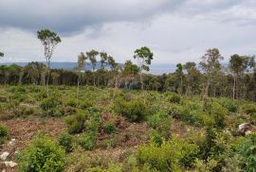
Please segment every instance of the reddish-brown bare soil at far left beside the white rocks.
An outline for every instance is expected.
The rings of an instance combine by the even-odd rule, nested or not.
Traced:
[[[27,143],[32,140],[32,138],[37,134],[38,131],[44,131],[49,136],[56,138],[63,132],[66,127],[65,123],[61,118],[47,118],[45,121],[40,121],[38,119],[11,119],[3,121],[3,123],[9,129],[9,140],[5,145],[0,147],[0,154],[4,151],[8,151],[9,157],[8,161],[14,160],[15,151],[19,151],[23,147],[27,146]],[[15,139],[13,145],[9,145],[9,141]],[[3,168],[3,164],[0,163],[0,170]],[[17,169],[7,169],[9,171],[16,171]]]

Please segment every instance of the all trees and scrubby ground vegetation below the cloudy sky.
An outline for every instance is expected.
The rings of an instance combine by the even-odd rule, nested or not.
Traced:
[[[227,68],[210,48],[200,68],[178,63],[154,76],[143,73],[154,57],[146,46],[124,65],[92,49],[76,70],[57,70],[50,60],[60,37],[44,29],[38,39],[46,65],[0,67],[0,144],[13,150],[15,170],[255,171],[254,57],[233,55]],[[249,131],[238,130],[243,123]],[[16,147],[3,145],[9,136]]]

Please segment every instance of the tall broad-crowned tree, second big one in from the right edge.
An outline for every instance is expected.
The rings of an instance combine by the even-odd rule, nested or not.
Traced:
[[[214,78],[220,73],[222,65],[220,60],[224,60],[221,56],[220,51],[217,48],[208,49],[205,55],[202,57],[202,61],[199,63],[203,72],[205,73],[205,90],[204,90],[204,99],[208,97],[210,85],[214,87]]]

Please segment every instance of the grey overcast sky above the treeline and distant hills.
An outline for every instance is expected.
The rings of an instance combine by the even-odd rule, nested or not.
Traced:
[[[255,0],[0,0],[0,51],[6,61],[45,60],[36,31],[56,31],[53,61],[106,51],[117,61],[148,46],[154,63],[198,62],[210,47],[226,60],[256,54]]]

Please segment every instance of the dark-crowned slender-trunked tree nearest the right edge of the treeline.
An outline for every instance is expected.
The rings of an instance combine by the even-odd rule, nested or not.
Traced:
[[[229,69],[232,73],[234,83],[233,83],[233,99],[238,98],[239,92],[239,77],[247,69],[249,59],[247,57],[239,56],[237,54],[232,55],[229,60]]]

